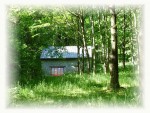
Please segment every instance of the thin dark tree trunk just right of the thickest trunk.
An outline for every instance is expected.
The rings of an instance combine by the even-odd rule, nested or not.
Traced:
[[[126,46],[126,42],[125,42],[125,34],[126,34],[126,24],[125,24],[125,19],[126,19],[126,15],[125,15],[125,9],[124,9],[124,29],[123,29],[123,31],[124,31],[124,35],[123,35],[123,42],[122,42],[122,46],[123,46],[123,48],[122,48],[122,64],[123,64],[123,68],[125,68],[125,46]]]

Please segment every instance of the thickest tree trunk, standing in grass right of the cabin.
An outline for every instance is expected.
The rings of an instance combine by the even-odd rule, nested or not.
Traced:
[[[111,13],[111,54],[110,54],[110,88],[118,89],[119,74],[118,74],[118,47],[117,47],[117,26],[116,26],[116,13],[115,7],[110,7]]]

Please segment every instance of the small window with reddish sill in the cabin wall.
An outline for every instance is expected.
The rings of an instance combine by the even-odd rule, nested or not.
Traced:
[[[51,75],[60,76],[64,74],[64,67],[51,67]]]

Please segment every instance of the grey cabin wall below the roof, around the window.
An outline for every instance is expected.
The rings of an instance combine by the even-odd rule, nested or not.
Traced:
[[[50,75],[52,66],[64,66],[64,73],[75,73],[78,71],[77,59],[71,60],[42,60],[42,70],[45,75]]]

